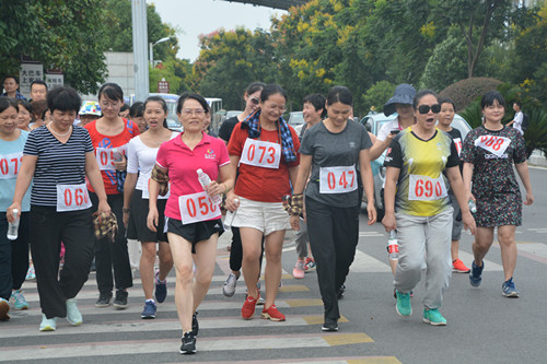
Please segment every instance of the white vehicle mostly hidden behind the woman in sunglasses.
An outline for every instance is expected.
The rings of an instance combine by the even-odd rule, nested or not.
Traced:
[[[361,119],[361,124],[365,126],[366,130],[377,136],[384,124],[394,120],[397,114],[392,114],[385,116],[382,114],[369,114]],[[462,141],[465,140],[467,133],[472,130],[472,127],[463,117],[459,115],[454,116],[452,121],[452,127],[459,130],[462,133]],[[374,177],[374,207],[377,212],[377,220],[380,221],[384,216],[384,199],[383,189],[385,183],[385,167],[384,167],[385,151],[375,161],[371,161],[372,175]],[[366,203],[366,196],[363,193],[363,202]]]

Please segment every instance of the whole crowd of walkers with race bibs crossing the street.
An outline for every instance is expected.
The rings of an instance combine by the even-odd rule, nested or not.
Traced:
[[[151,96],[123,110],[124,93],[115,83],[101,87],[98,103],[83,104],[73,89],[48,92],[43,82],[33,84],[33,99],[26,102],[14,77],[5,78],[4,90],[0,320],[10,318],[11,308],[28,308],[21,289],[30,272],[30,251],[40,331],[56,330],[58,318],[73,326],[83,322],[77,296],[92,263],[95,306],[126,308],[127,289],[133,284],[127,238],[132,238],[142,247],[141,317],[155,317],[174,267],[179,352],[193,354],[197,309],[213,277],[218,238],[229,225],[231,272],[222,293],[232,296],[243,273],[243,319],[253,319],[256,306],[263,305],[261,318],[286,320],[276,295],[283,239],[292,227],[299,231],[293,277],[302,279],[304,271],[316,269],[322,330],[337,331],[338,300],[356,255],[363,193],[368,224],[376,222],[371,161],[382,153],[382,223],[386,232],[396,233],[399,251],[398,260],[391,260],[397,314],[411,315],[412,290],[426,269],[423,321],[446,325],[439,309],[452,272],[469,273],[470,284],[480,285],[496,227],[502,294],[520,295],[513,273],[523,198],[513,166],[526,191],[524,204],[534,198],[522,117],[515,117],[514,128],[501,124],[507,106],[498,92],[484,95],[484,122],[463,140],[451,126],[454,102],[429,90],[416,92],[409,84],[398,85],[385,104],[385,115],[397,117],[377,138],[353,121],[352,94],[345,86],[333,87],[326,97],[306,96],[305,124],[296,131],[282,117],[283,89],[254,82],[244,92],[244,111],[223,122],[219,138],[209,134],[209,106],[195,93],[178,98],[184,131],[175,132],[167,129],[163,98]],[[225,222],[221,209],[229,211]],[[458,258],[463,227],[475,235],[470,269]]]

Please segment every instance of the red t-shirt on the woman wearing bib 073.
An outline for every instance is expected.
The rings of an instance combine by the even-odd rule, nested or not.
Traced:
[[[298,151],[300,149],[299,137],[292,127],[289,126],[289,128],[294,150]],[[253,201],[281,202],[284,195],[291,195],[289,167],[295,167],[300,164],[300,155],[296,153],[296,161],[289,164],[281,156],[278,168],[245,164],[242,163],[241,157],[247,138],[248,129],[242,129],[242,122],[238,122],[228,143],[229,154],[240,157],[240,175],[235,184],[235,195]],[[277,130],[261,129],[260,137],[256,140],[281,144]],[[257,151],[257,149],[255,150]]]

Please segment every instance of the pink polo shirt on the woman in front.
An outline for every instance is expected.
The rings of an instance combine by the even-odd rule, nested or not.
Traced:
[[[171,179],[171,196],[165,206],[165,216],[182,220],[178,197],[203,191],[197,169],[201,168],[211,180],[217,180],[219,167],[230,163],[224,142],[203,133],[199,144],[190,150],[181,136],[164,142],[158,151],[155,163],[167,169]]]

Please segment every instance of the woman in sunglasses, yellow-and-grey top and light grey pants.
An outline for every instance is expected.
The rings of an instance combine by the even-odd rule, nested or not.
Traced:
[[[397,231],[399,260],[395,272],[396,312],[410,316],[410,291],[421,279],[427,263],[423,322],[446,325],[439,313],[452,275],[450,255],[453,209],[447,195],[450,183],[462,209],[465,228],[475,233],[459,174],[459,158],[452,138],[435,128],[441,110],[439,98],[429,90],[419,91],[412,102],[416,124],[392,141],[384,165],[386,232]]]

